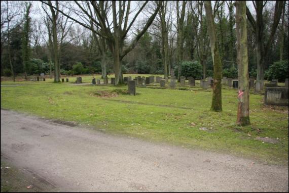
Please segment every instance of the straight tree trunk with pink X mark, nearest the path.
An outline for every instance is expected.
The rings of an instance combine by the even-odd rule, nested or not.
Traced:
[[[246,1],[236,1],[236,35],[238,63],[238,125],[249,125],[249,73],[246,26]]]

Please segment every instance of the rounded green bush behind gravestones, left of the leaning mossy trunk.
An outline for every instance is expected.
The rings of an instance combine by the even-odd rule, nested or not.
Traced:
[[[181,75],[188,77],[194,77],[195,79],[202,78],[202,65],[199,61],[184,61],[182,62],[181,68]],[[178,67],[174,68],[174,74],[177,77],[178,75]]]

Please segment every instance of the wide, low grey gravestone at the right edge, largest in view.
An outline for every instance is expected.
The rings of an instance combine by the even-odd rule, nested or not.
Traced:
[[[288,106],[288,88],[265,87],[264,102],[266,105]]]

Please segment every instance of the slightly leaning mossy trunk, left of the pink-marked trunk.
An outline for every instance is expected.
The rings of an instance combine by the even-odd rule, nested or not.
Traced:
[[[213,80],[213,95],[212,95],[212,111],[222,111],[222,62],[218,49],[218,41],[216,39],[214,19],[212,14],[211,2],[205,1],[205,11],[208,25],[208,32],[210,37],[210,47],[214,67]]]

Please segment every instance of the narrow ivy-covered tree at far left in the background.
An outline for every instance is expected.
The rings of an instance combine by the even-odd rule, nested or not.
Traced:
[[[23,37],[22,37],[22,61],[24,67],[24,75],[25,79],[27,79],[27,72],[29,69],[29,60],[30,60],[30,44],[29,38],[31,33],[31,17],[29,16],[30,9],[32,4],[26,3],[25,4],[25,15],[24,15],[24,25],[23,25]]]

